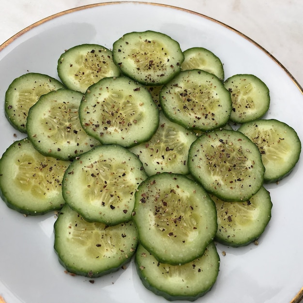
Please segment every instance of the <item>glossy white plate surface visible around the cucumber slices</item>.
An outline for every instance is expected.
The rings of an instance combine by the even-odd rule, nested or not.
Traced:
[[[224,63],[225,76],[249,73],[271,92],[267,118],[282,120],[303,138],[303,95],[287,71],[260,46],[208,17],[162,5],[109,3],[51,16],[15,35],[0,51],[0,97],[12,80],[27,72],[58,77],[61,53],[74,45],[98,43],[111,48],[129,31],[162,31],[183,50],[203,46]],[[21,138],[0,112],[0,154]],[[17,137],[14,137],[17,133]],[[302,161],[292,174],[267,186],[272,220],[259,245],[217,245],[220,273],[203,303],[286,303],[303,286]],[[131,263],[126,270],[95,279],[64,273],[53,250],[53,213],[24,217],[0,203],[0,296],[7,303],[166,302],[146,290]],[[222,250],[226,256],[221,254]]]

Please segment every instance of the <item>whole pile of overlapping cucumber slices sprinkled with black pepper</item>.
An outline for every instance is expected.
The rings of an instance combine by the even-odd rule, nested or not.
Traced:
[[[59,57],[59,56],[58,56]],[[25,215],[58,211],[54,248],[96,278],[133,257],[142,283],[194,301],[219,273],[215,242],[256,241],[271,219],[265,183],[286,177],[300,139],[264,119],[266,84],[224,77],[210,50],[152,30],[76,45],[58,79],[16,78],[5,114],[26,138],[0,159],[0,196]]]

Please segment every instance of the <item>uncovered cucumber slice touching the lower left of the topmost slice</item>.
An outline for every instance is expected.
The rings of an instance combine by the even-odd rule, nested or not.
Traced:
[[[81,101],[79,117],[90,136],[123,147],[148,141],[159,124],[151,94],[127,77],[103,78],[92,85]]]

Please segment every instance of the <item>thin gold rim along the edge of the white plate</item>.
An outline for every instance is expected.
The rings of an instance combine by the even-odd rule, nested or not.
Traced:
[[[195,12],[193,10],[186,9],[186,8],[174,6],[174,5],[171,5],[171,4],[163,4],[163,3],[155,3],[155,2],[143,2],[143,1],[107,1],[107,2],[97,2],[97,3],[91,3],[91,4],[76,6],[74,8],[63,10],[61,12],[58,12],[58,13],[49,15],[45,18],[42,18],[42,19],[30,24],[29,26],[25,27],[24,29],[18,31],[17,33],[15,33],[13,36],[11,36],[9,39],[7,39],[5,42],[3,42],[0,45],[0,52],[3,51],[9,45],[11,45],[16,39],[20,38],[23,34],[27,33],[28,31],[30,31],[34,28],[37,28],[38,26],[40,26],[40,25],[42,25],[42,24],[44,24],[48,21],[54,20],[57,17],[72,14],[72,13],[82,11],[82,10],[86,10],[86,9],[91,9],[91,8],[94,8],[94,7],[101,7],[101,6],[106,6],[106,5],[119,5],[119,4],[136,4],[136,5],[139,4],[139,5],[146,5],[146,6],[152,5],[152,6],[158,6],[158,7],[166,7],[166,8],[170,8],[170,9],[173,9],[173,10],[179,10],[179,11],[183,11],[183,12],[190,13],[190,14],[193,14],[193,15],[197,15],[197,16],[200,16],[200,17],[205,18],[207,20],[210,20],[210,21],[212,21],[216,24],[219,24],[219,25],[225,27],[227,30],[231,30],[231,31],[235,32],[236,34],[238,34],[242,38],[246,39],[248,42],[257,46],[261,51],[263,51],[263,53],[265,53],[268,57],[270,57],[270,59],[272,59],[280,68],[282,68],[282,70],[284,70],[284,72],[292,80],[292,82],[295,84],[295,86],[303,94],[303,86],[301,86],[299,84],[299,82],[296,80],[296,78],[288,71],[288,69],[280,61],[278,61],[269,51],[267,51],[263,46],[258,44],[256,41],[254,41],[253,39],[251,39],[247,35],[243,34],[241,31],[236,30],[235,28],[233,28],[233,27],[227,25],[226,23],[224,23],[222,21],[219,21],[219,20],[217,20],[213,17],[210,17],[208,15],[204,15],[204,14],[201,14],[201,13],[198,13],[198,12]],[[303,300],[303,287],[297,292],[297,294],[293,297],[293,299],[291,299],[290,303],[300,303],[302,300]],[[2,301],[5,303],[3,297],[0,295],[0,303]]]

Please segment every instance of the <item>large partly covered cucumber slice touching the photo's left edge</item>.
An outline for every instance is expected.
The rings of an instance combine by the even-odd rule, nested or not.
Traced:
[[[0,159],[0,196],[7,206],[27,215],[59,210],[69,164],[43,156],[27,138],[15,141]]]

